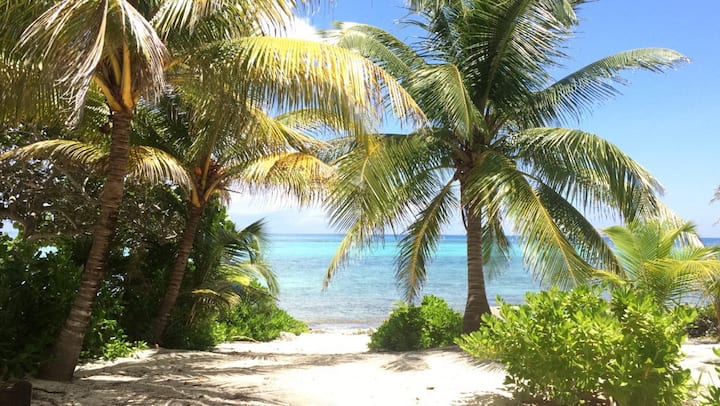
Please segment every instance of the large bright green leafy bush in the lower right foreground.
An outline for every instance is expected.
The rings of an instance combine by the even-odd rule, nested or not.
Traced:
[[[597,288],[528,294],[525,305],[502,301],[500,318],[458,340],[475,357],[505,364],[506,383],[521,401],[678,405],[689,390],[680,346],[693,310],[664,310],[647,296]]]

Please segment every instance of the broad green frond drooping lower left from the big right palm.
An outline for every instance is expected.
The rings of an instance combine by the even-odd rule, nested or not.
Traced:
[[[432,205],[451,178],[437,160],[441,155],[436,148],[422,137],[372,137],[338,160],[338,178],[326,207],[331,225],[346,236],[328,268],[326,285],[351,253],[369,247],[377,236],[405,228],[422,208]],[[446,220],[438,213],[448,215],[450,196],[435,202],[436,211],[428,212],[435,217],[428,221],[439,227]],[[433,227],[416,231],[428,237],[430,229],[439,232]]]

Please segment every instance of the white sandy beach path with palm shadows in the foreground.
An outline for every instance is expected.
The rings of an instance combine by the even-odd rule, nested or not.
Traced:
[[[456,347],[370,352],[366,331],[283,335],[213,352],[146,350],[78,367],[71,383],[33,380],[33,405],[511,405],[502,366]],[[684,346],[706,383],[719,344]]]

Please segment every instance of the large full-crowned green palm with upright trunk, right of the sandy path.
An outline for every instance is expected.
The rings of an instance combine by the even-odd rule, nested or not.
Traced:
[[[555,81],[551,70],[566,58],[563,47],[583,1],[411,3],[410,22],[425,33],[414,46],[362,24],[328,33],[403,83],[430,128],[367,138],[340,160],[339,188],[328,208],[347,235],[326,283],[353,247],[402,230],[397,277],[406,298],[415,298],[457,208],[467,234],[466,332],[490,312],[485,272],[508,256],[508,225],[544,282],[586,281],[588,262],[615,268],[612,251],[580,209],[627,220],[655,214],[661,185],[606,140],[558,125],[617,94],[621,71],[661,72],[686,58],[635,49]]]

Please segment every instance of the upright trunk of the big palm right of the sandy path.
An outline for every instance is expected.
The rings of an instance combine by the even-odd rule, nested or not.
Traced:
[[[471,333],[480,327],[480,316],[490,313],[490,304],[485,292],[482,219],[476,210],[468,210],[465,220],[467,222],[468,296],[463,315],[463,332]]]

